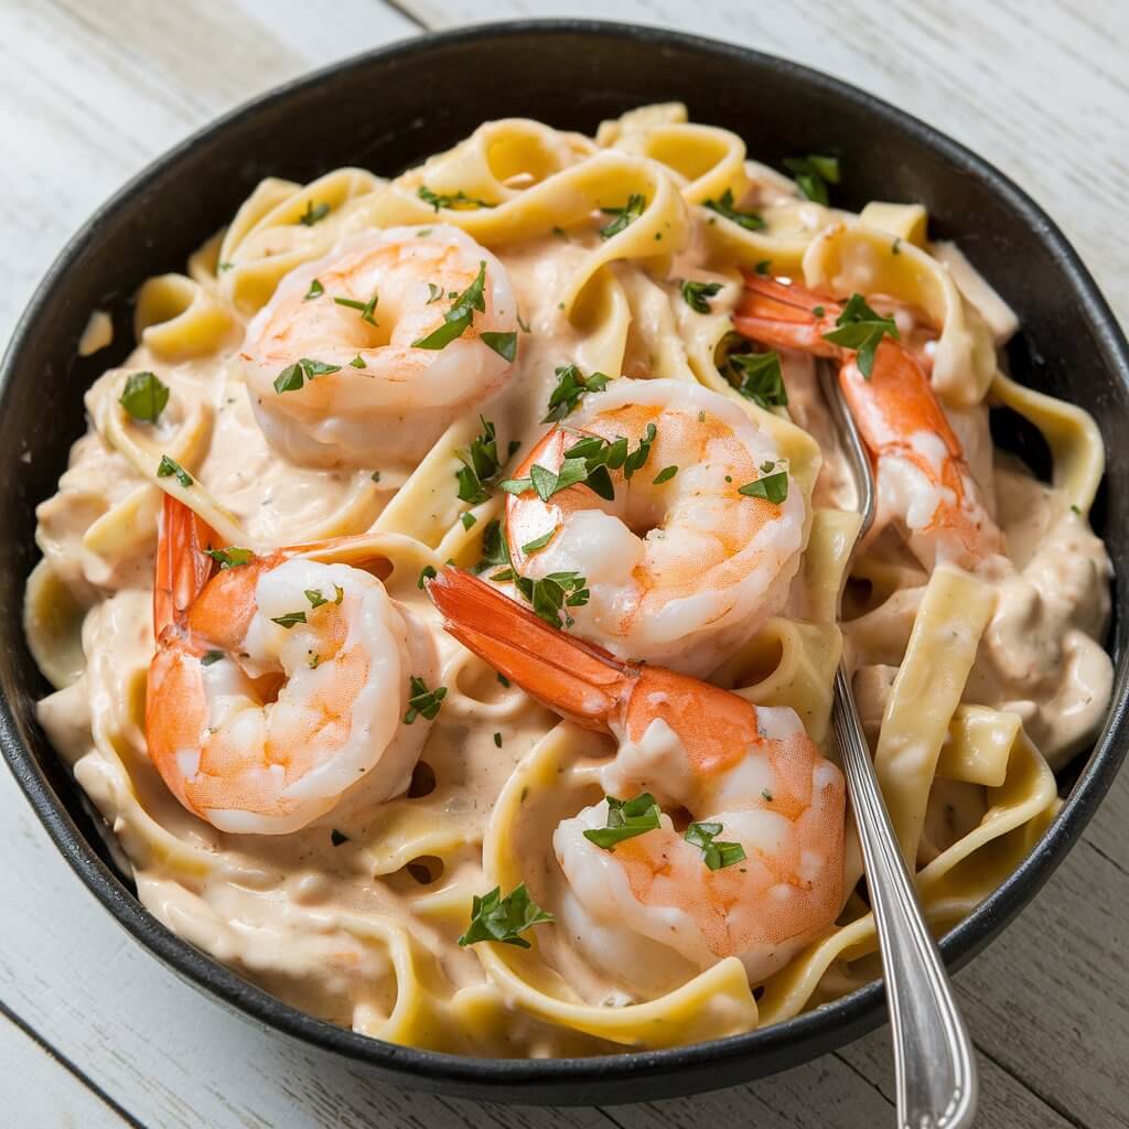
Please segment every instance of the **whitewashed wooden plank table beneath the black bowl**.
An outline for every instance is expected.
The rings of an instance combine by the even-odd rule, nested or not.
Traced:
[[[564,15],[736,41],[905,107],[1023,184],[1129,320],[1127,0],[0,0],[0,342],[88,212],[221,111],[430,28]],[[5,1126],[893,1123],[884,1031],[765,1082],[657,1104],[505,1110],[404,1094],[261,1033],[160,968],[86,893],[2,770],[0,858]],[[957,977],[981,1124],[1129,1126],[1127,907],[1129,776]]]

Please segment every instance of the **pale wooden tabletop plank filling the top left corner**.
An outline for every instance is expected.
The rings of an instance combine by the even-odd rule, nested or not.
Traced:
[[[415,25],[379,0],[0,5],[0,342],[67,238],[126,178],[222,111]]]

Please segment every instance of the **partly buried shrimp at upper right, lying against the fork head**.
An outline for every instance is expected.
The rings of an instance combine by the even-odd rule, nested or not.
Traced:
[[[1004,551],[1003,535],[969,472],[961,443],[929,385],[922,360],[882,339],[869,377],[856,351],[825,340],[843,307],[795,283],[745,272],[733,324],[764,344],[839,361],[839,384],[875,464],[877,526],[896,523],[926,568],[973,568]]]

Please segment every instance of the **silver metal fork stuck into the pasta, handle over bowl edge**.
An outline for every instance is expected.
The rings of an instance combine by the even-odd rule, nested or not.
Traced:
[[[855,475],[863,518],[857,548],[874,522],[874,474],[855,419],[843,403],[837,375],[831,365],[819,364],[823,395],[840,436],[846,439]],[[882,949],[894,1042],[899,1129],[964,1129],[972,1124],[977,1110],[972,1040],[890,825],[855,695],[841,662],[835,671],[832,725],[863,844],[867,889]]]

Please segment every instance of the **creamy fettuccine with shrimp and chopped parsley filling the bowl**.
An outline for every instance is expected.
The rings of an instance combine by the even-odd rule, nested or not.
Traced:
[[[786,166],[681,105],[488,122],[266,180],[141,287],[26,627],[169,929],[455,1053],[795,1016],[879,974],[840,660],[936,931],[1031,850],[1111,694],[1097,430],[1007,375],[1014,315],[922,207]]]

